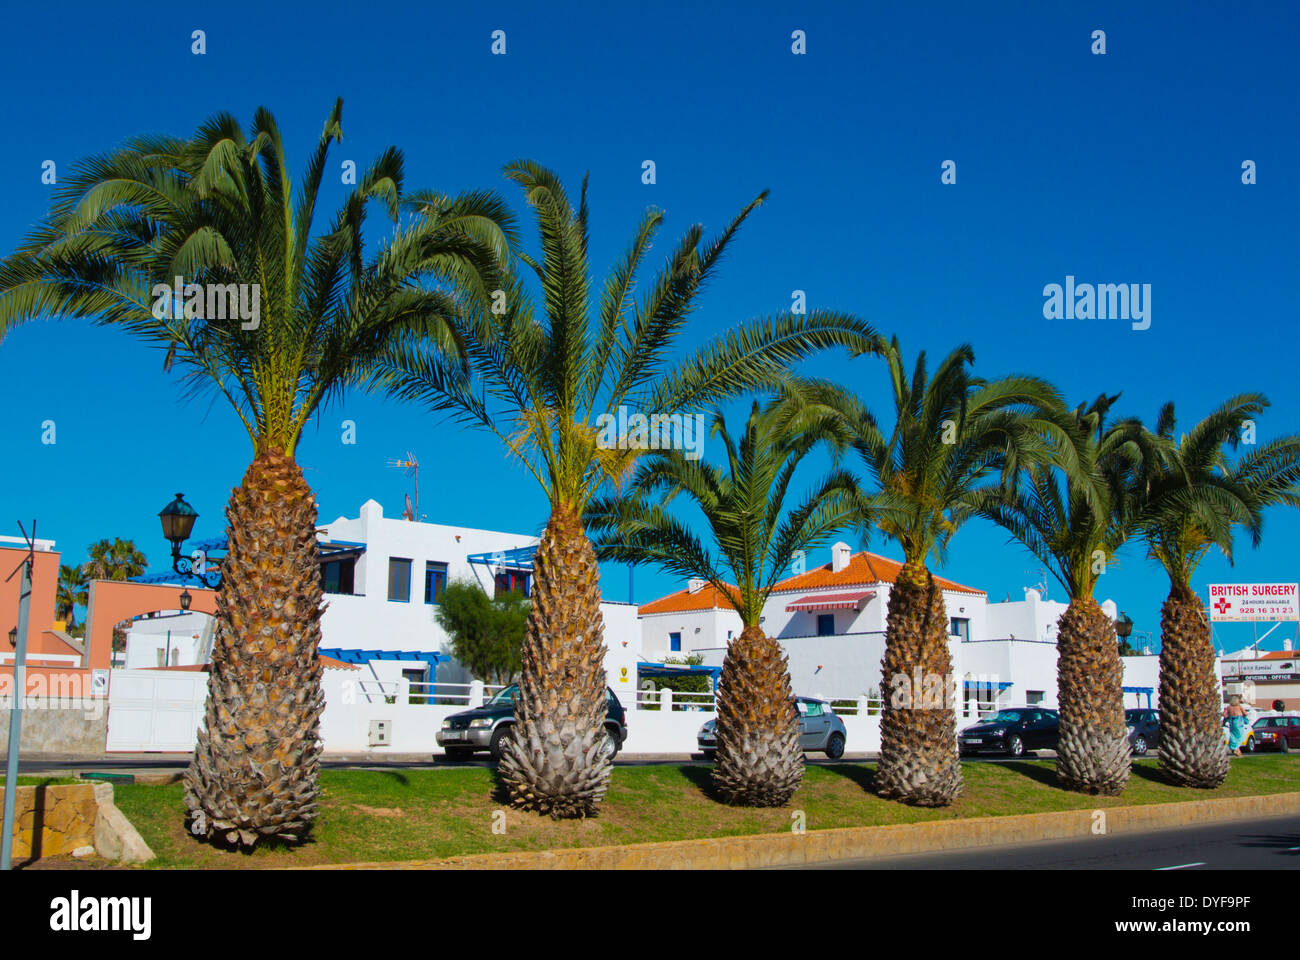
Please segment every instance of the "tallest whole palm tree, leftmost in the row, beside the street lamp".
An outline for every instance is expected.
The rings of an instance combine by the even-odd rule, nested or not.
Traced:
[[[127,140],[62,180],[0,263],[0,330],[46,313],[121,325],[162,347],[194,392],[225,397],[252,442],[226,510],[205,726],[185,780],[190,830],[243,847],[299,840],[317,817],[321,585],[316,501],[295,460],[303,429],[395,338],[454,347],[442,317],[486,294],[480,271],[511,229],[490,194],[403,195],[390,147],[313,237],[341,121],[339,100],[296,191],[265,108],[247,135],[220,113],[190,139]],[[370,254],[374,204],[410,216]],[[235,291],[250,311],[225,319]]]

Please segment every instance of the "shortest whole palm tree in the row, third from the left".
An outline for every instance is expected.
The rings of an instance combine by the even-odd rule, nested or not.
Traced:
[[[630,496],[593,501],[588,526],[601,559],[651,562],[714,587],[744,630],[727,648],[718,686],[714,784],[733,804],[783,807],[803,777],[798,714],[781,645],[763,632],[763,605],[797,550],[822,542],[859,513],[852,475],[835,470],[785,510],[800,462],[823,441],[842,444],[842,423],[823,418],[790,431],[779,406],[754,402],[737,444],[715,414],[725,471],[680,450],[644,462]],[[708,524],[716,557],[667,509],[684,494]],[[732,587],[734,583],[736,587]]]

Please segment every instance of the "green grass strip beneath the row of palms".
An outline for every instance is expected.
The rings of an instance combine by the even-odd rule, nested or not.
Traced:
[[[796,809],[809,830],[826,830],[1300,791],[1300,758],[1282,756],[1235,761],[1216,791],[1169,786],[1154,760],[1140,760],[1114,799],[1060,790],[1052,761],[963,766],[965,796],[942,810],[880,800],[870,792],[875,766],[867,764],[809,766],[790,805],[764,810],[710,799],[707,766],[616,767],[601,816],[586,821],[511,810],[497,799],[495,773],[486,767],[325,770],[312,842],[296,849],[259,846],[252,853],[218,851],[186,834],[179,783],[118,784],[114,795],[157,853],[146,866],[265,868],[776,833],[789,830]],[[506,813],[504,834],[493,833],[495,810]]]

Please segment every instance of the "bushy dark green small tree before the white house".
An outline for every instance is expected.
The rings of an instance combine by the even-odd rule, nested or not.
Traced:
[[[486,683],[508,684],[519,679],[528,609],[523,593],[493,598],[473,580],[454,580],[438,597],[436,617],[452,657]]]

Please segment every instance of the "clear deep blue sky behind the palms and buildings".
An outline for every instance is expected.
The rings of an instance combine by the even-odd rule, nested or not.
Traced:
[[[802,289],[811,307],[897,332],[909,353],[970,342],[984,376],[1036,373],[1072,401],[1122,392],[1119,411],[1147,419],[1173,399],[1188,424],[1262,390],[1273,408],[1261,440],[1295,431],[1297,8],[988,7],[294,3],[133,14],[70,3],[57,23],[47,9],[12,10],[0,36],[0,251],[46,208],[44,160],[64,169],[131,134],[187,134],[222,109],[247,122],[264,104],[300,164],[342,95],[335,160],[364,167],[396,144],[412,187],[498,189],[523,213],[499,176],[508,160],[536,159],[575,190],[590,170],[598,273],[649,204],[667,213],[666,251],[690,224],[720,229],[771,189],[684,349],[789,307]],[[195,29],[207,31],[204,56],[190,52]],[[490,53],[497,29],[506,56]],[[796,29],[805,56],[790,52]],[[1104,56],[1089,52],[1097,29]],[[653,186],[641,182],[647,159]],[[945,160],[956,185],[940,183]],[[1244,160],[1256,185],[1242,183]],[[337,181],[326,209],[343,195]],[[1150,329],[1044,320],[1044,285],[1067,274],[1150,284]],[[835,355],[806,369],[885,414],[880,362]],[[29,324],[0,343],[0,532],[35,516],[69,562],[99,537],[131,537],[165,568],[156,514],[183,490],[202,514],[196,535],[220,533],[248,441],[222,401],[182,402],[156,350],[81,321]],[[355,445],[341,442],[344,419]],[[40,442],[44,420],[53,445]],[[370,497],[399,514],[408,481],[385,464],[407,450],[422,464],[430,520],[524,533],[545,523],[541,490],[490,437],[360,394],[326,410],[299,450],[321,522],[355,516]],[[1296,579],[1297,533],[1295,514],[1271,514],[1260,550],[1243,544],[1235,570],[1212,557],[1195,585],[1204,596],[1210,581]],[[1036,561],[983,524],[959,532],[942,572],[992,600],[1039,579]],[[607,574],[607,594],[625,600],[625,572]],[[1097,596],[1158,636],[1166,585],[1131,546]],[[676,587],[642,568],[636,598]],[[1252,628],[1218,636],[1231,648]],[[1283,636],[1294,627],[1268,645]]]

